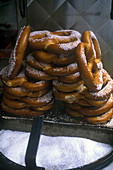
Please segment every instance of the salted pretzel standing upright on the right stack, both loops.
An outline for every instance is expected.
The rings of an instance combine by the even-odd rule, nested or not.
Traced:
[[[91,31],[85,32],[82,38],[84,42],[77,47],[79,71],[88,89],[98,91],[103,85],[100,47]]]

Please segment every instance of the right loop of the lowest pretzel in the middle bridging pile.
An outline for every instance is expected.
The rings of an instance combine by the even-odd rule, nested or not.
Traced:
[[[57,79],[64,83],[76,83],[81,79],[80,72],[75,72],[74,74],[70,74],[68,76],[58,76]]]

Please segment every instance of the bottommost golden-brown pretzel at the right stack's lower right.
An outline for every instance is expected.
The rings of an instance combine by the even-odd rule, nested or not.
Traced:
[[[84,117],[84,119],[92,124],[99,124],[99,123],[106,123],[111,119],[113,115],[113,108],[111,108],[109,111],[106,113],[99,115],[99,116],[94,116],[94,117]]]

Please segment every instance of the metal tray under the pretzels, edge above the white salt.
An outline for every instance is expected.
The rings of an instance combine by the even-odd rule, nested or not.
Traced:
[[[30,132],[33,118],[9,115],[0,110],[0,128]],[[89,138],[98,142],[113,144],[113,118],[106,124],[93,125],[81,118],[68,115],[63,103],[56,100],[56,104],[43,117],[42,134],[48,136],[73,136]]]

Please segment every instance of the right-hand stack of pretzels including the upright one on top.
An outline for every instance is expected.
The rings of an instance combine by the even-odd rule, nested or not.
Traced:
[[[85,88],[79,101],[66,103],[67,112],[89,123],[105,123],[113,115],[113,80],[103,69],[99,43],[92,31],[83,33],[76,53]]]

